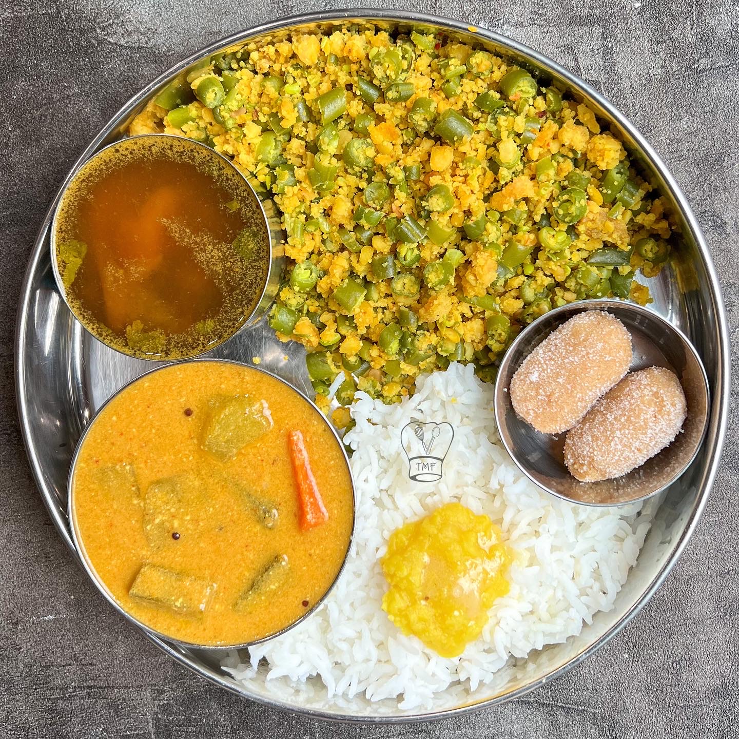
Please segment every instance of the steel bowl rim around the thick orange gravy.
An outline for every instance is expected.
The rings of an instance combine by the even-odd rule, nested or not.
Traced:
[[[77,467],[77,461],[80,456],[80,451],[84,446],[85,439],[87,435],[90,432],[90,429],[92,429],[95,426],[95,420],[99,418],[101,413],[106,409],[109,403],[111,403],[115,398],[118,398],[118,395],[120,395],[121,392],[129,388],[129,386],[132,386],[133,384],[137,383],[140,380],[143,380],[145,378],[148,378],[150,375],[154,374],[154,372],[163,372],[167,369],[170,369],[171,367],[181,365],[181,364],[191,364],[193,362],[208,362],[212,364],[236,364],[238,367],[245,367],[247,369],[251,369],[254,372],[262,372],[263,375],[269,375],[271,378],[281,382],[283,385],[285,385],[288,389],[290,389],[292,392],[295,392],[296,395],[299,395],[302,401],[305,403],[308,403],[308,405],[313,408],[313,410],[316,412],[316,414],[319,415],[319,418],[323,420],[323,422],[326,424],[326,426],[331,430],[331,433],[336,438],[336,443],[338,444],[339,448],[341,449],[341,454],[344,457],[344,463],[346,463],[347,471],[349,472],[349,481],[350,485],[352,487],[352,528],[349,534],[349,540],[347,541],[347,551],[344,552],[344,559],[341,561],[341,566],[338,568],[338,571],[336,572],[336,577],[333,579],[329,587],[327,588],[326,592],[315,602],[313,605],[305,611],[305,613],[302,613],[302,615],[297,619],[296,621],[293,621],[292,624],[288,624],[285,628],[276,631],[274,633],[268,634],[268,636],[263,636],[259,639],[253,639],[252,641],[245,641],[239,644],[194,644],[193,642],[189,641],[182,641],[181,639],[174,638],[172,636],[168,636],[168,634],[161,633],[160,631],[154,630],[151,627],[147,626],[143,621],[140,621],[139,619],[132,616],[128,611],[126,611],[125,608],[123,608],[122,605],[115,599],[115,596],[110,592],[110,590],[107,588],[106,584],[103,582],[103,579],[101,579],[100,576],[98,576],[97,571],[95,570],[94,565],[92,565],[92,562],[90,562],[85,547],[84,542],[82,541],[82,538],[80,536],[80,532],[78,530],[78,524],[77,524],[77,516],[75,511],[75,497],[74,497],[74,486],[73,486],[73,480],[75,478],[75,469]],[[302,623],[305,619],[307,619],[311,613],[314,613],[317,608],[319,608],[325,599],[329,596],[329,593],[336,587],[336,583],[338,582],[338,579],[341,577],[341,573],[344,572],[344,568],[347,566],[347,560],[349,559],[349,553],[352,548],[352,542],[354,540],[354,535],[356,531],[356,506],[357,506],[357,494],[356,494],[356,488],[354,484],[354,477],[352,474],[352,467],[349,463],[349,457],[347,456],[347,450],[344,447],[344,443],[341,441],[341,437],[336,432],[336,429],[330,423],[330,421],[324,416],[323,413],[321,413],[321,410],[316,406],[313,401],[310,400],[310,398],[307,397],[303,392],[300,392],[299,389],[297,389],[295,386],[291,385],[289,382],[284,380],[283,378],[279,377],[279,375],[275,375],[273,372],[268,372],[266,369],[262,369],[261,367],[256,367],[253,364],[245,364],[244,362],[238,362],[233,361],[231,359],[215,359],[215,358],[202,358],[202,359],[185,359],[183,361],[177,361],[177,362],[168,362],[168,364],[163,365],[161,367],[154,367],[153,369],[149,369],[148,372],[143,372],[142,375],[138,375],[136,378],[134,378],[132,381],[126,383],[118,389],[116,392],[113,393],[113,395],[108,398],[105,403],[103,403],[100,408],[98,408],[97,412],[95,412],[95,415],[93,416],[92,420],[87,424],[85,427],[85,430],[83,434],[80,437],[80,440],[77,443],[77,446],[75,446],[75,453],[72,455],[72,463],[69,466],[69,476],[67,477],[67,511],[69,515],[69,533],[71,534],[72,539],[72,545],[74,545],[75,550],[77,551],[77,554],[79,556],[79,559],[81,561],[81,564],[86,571],[87,575],[89,576],[89,579],[92,580],[92,583],[95,585],[95,588],[98,588],[100,590],[103,597],[106,599],[107,602],[109,602],[112,607],[115,608],[115,610],[118,611],[122,616],[125,616],[126,619],[131,621],[132,624],[135,624],[137,627],[140,627],[140,629],[143,629],[143,631],[151,638],[160,638],[166,640],[169,644],[177,645],[179,647],[183,647],[185,649],[203,649],[203,650],[215,650],[215,651],[222,651],[222,650],[233,650],[233,649],[242,649],[244,647],[253,647],[255,644],[261,644],[262,641],[268,641],[268,639],[273,639],[276,636],[281,636],[282,634],[286,633],[290,629],[293,629],[296,627],[299,623]]]

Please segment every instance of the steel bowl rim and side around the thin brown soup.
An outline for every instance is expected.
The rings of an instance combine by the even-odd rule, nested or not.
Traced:
[[[186,148],[190,146],[192,149],[197,149],[197,154],[200,157],[211,157],[212,161],[214,163],[217,163],[219,166],[225,166],[225,168],[230,169],[231,171],[236,174],[237,177],[239,177],[240,180],[243,180],[246,187],[246,192],[248,193],[248,197],[251,198],[250,203],[250,211],[251,215],[253,215],[254,219],[258,220],[259,222],[257,225],[259,226],[259,231],[261,231],[262,236],[267,241],[267,253],[270,255],[268,264],[267,264],[267,271],[265,273],[265,280],[264,284],[262,285],[261,291],[259,293],[259,299],[256,301],[255,307],[253,307],[253,310],[251,310],[251,313],[245,314],[243,316],[241,323],[234,331],[231,332],[231,334],[227,336],[222,336],[222,338],[219,338],[217,341],[211,342],[211,344],[208,344],[207,347],[205,347],[202,350],[193,351],[191,353],[186,354],[178,354],[177,356],[167,356],[165,354],[157,354],[157,355],[146,355],[140,352],[136,352],[134,350],[127,352],[125,350],[125,347],[121,346],[120,344],[111,344],[109,341],[106,341],[106,338],[104,336],[99,336],[98,333],[95,332],[95,327],[91,326],[89,324],[89,321],[86,321],[84,316],[81,316],[78,312],[78,310],[75,309],[75,306],[72,302],[69,302],[69,299],[67,299],[67,290],[64,287],[64,283],[61,281],[61,275],[59,273],[59,263],[58,263],[58,257],[57,257],[57,231],[58,231],[58,219],[60,217],[61,211],[64,208],[64,205],[67,202],[67,197],[70,192],[70,188],[72,188],[72,185],[74,185],[80,177],[84,177],[84,174],[92,169],[94,166],[96,160],[99,160],[100,157],[103,157],[106,155],[107,152],[109,152],[111,149],[115,149],[116,147],[120,146],[126,146],[126,142],[129,142],[134,139],[149,139],[149,140],[174,140],[177,142],[177,146],[180,146],[182,148]],[[234,163],[228,159],[228,157],[224,157],[222,154],[219,154],[214,149],[211,149],[211,147],[206,146],[204,143],[200,143],[199,141],[195,141],[192,139],[188,139],[182,136],[172,136],[171,134],[140,134],[137,136],[129,136],[124,137],[118,141],[114,141],[113,143],[110,143],[108,146],[104,146],[103,149],[100,151],[96,151],[95,154],[92,155],[92,157],[89,157],[89,159],[85,160],[83,163],[81,163],[75,170],[75,172],[69,177],[69,180],[67,182],[66,187],[64,188],[64,191],[61,193],[58,204],[54,211],[54,217],[52,219],[52,224],[50,228],[50,249],[51,249],[51,264],[52,264],[52,270],[54,273],[54,279],[56,281],[57,289],[59,290],[59,293],[61,294],[62,299],[64,299],[65,304],[67,304],[67,307],[72,312],[72,315],[75,316],[75,319],[77,319],[81,326],[84,327],[84,329],[90,333],[92,336],[94,336],[98,341],[101,341],[101,343],[105,344],[106,347],[110,347],[112,350],[115,350],[119,352],[120,354],[135,357],[138,359],[147,359],[150,361],[165,361],[168,359],[188,359],[195,356],[199,356],[204,354],[205,352],[209,352],[216,347],[223,344],[225,341],[228,341],[229,339],[236,336],[239,331],[244,329],[245,327],[251,326],[256,323],[256,321],[259,321],[259,319],[266,313],[268,308],[270,307],[270,304],[272,304],[272,301],[274,297],[277,294],[277,291],[279,290],[279,282],[282,278],[282,266],[283,262],[285,261],[284,256],[282,256],[279,252],[278,245],[282,239],[282,231],[280,226],[280,219],[279,215],[276,212],[276,208],[274,207],[274,204],[271,200],[268,200],[267,198],[262,198],[259,196],[253,185],[249,182],[248,177],[245,176],[245,174],[236,166],[234,166]]]

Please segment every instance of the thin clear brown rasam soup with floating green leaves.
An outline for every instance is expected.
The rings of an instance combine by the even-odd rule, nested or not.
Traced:
[[[264,219],[237,171],[170,136],[89,160],[55,222],[61,282],[95,336],[132,355],[191,356],[231,336],[267,279]]]

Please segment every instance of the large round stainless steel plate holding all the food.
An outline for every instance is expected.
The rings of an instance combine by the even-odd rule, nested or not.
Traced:
[[[126,103],[92,140],[59,192],[81,163],[124,134],[130,120],[160,87],[201,58],[265,35],[363,21],[376,22],[391,30],[425,24],[512,57],[536,72],[539,78],[568,87],[576,98],[587,100],[598,115],[619,130],[632,160],[641,163],[645,176],[671,202],[681,226],[677,259],[650,281],[654,298],[650,307],[691,338],[704,361],[711,389],[704,446],[686,474],[664,494],[637,565],[630,572],[613,610],[598,613],[592,624],[565,644],[532,653],[513,681],[481,686],[464,699],[452,693],[440,695],[432,711],[404,711],[395,701],[370,704],[363,698],[328,699],[320,689],[310,691],[310,695],[277,694],[270,684],[265,684],[263,675],[258,675],[246,688],[222,670],[218,653],[186,650],[144,632],[158,647],[191,670],[226,689],[270,706],[338,720],[418,721],[491,706],[539,687],[605,644],[652,596],[692,534],[716,474],[729,403],[729,338],[718,279],[695,216],[669,171],[629,121],[595,90],[538,52],[488,30],[445,18],[393,10],[333,11],[285,18],[236,33],[177,64]],[[52,274],[48,242],[50,219],[58,197],[59,194],[41,226],[24,278],[16,336],[16,389],[21,428],[35,481],[59,534],[74,552],[69,535],[66,491],[75,444],[95,409],[116,389],[151,369],[151,362],[126,358],[103,346],[72,318],[61,299]],[[304,375],[302,347],[281,344],[271,333],[265,321],[259,321],[209,355],[239,361],[259,357],[262,367],[307,392],[310,384]]]

